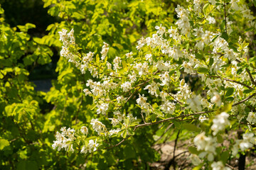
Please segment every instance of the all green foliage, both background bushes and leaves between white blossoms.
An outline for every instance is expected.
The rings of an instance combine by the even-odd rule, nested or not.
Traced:
[[[231,113],[233,103],[242,100],[245,96],[252,95],[254,92],[254,88],[249,85],[249,88],[247,86],[243,91],[238,91],[234,87],[225,86],[224,79],[221,79],[220,82],[214,82],[221,84],[216,86],[215,91],[221,92],[220,97],[224,106],[219,107],[218,103],[215,103],[214,106],[211,106],[214,112],[206,112],[208,113],[208,120],[199,123],[199,114],[193,115],[193,109],[184,110],[184,108],[191,107],[191,104],[180,103],[174,100],[175,98],[172,96],[167,96],[166,99],[175,101],[176,110],[179,111],[164,114],[161,110],[161,100],[147,96],[149,104],[152,105],[152,114],[142,113],[142,106],[136,104],[135,101],[138,94],[146,94],[146,91],[144,88],[136,86],[130,91],[132,94],[129,96],[130,100],[126,101],[123,110],[120,109],[120,111],[123,111],[124,115],[132,113],[134,117],[137,117],[137,120],[132,120],[130,117],[125,118],[124,124],[119,126],[122,127],[121,131],[111,138],[98,137],[92,126],[88,126],[90,137],[82,135],[80,128],[84,125],[90,125],[92,118],[97,118],[109,129],[112,125],[108,118],[114,116],[112,112],[107,113],[107,115],[95,114],[97,104],[102,104],[104,101],[100,96],[95,96],[95,98],[85,96],[83,90],[87,88],[87,80],[98,81],[104,77],[110,77],[112,72],[105,65],[107,62],[112,62],[116,56],[120,56],[122,58],[122,63],[120,63],[122,71],[114,77],[118,78],[118,82],[124,83],[127,74],[134,67],[132,60],[138,62],[145,60],[144,49],[142,52],[136,50],[137,41],[142,36],[151,36],[155,33],[155,26],[160,26],[161,23],[166,28],[175,26],[177,17],[174,8],[176,8],[177,3],[186,7],[188,4],[186,1],[160,0],[43,0],[43,3],[43,7],[48,9],[48,14],[55,17],[55,21],[59,21],[50,23],[46,28],[48,35],[43,35],[43,37],[35,35],[31,37],[29,31],[38,28],[38,25],[33,23],[16,27],[9,26],[4,21],[4,9],[0,6],[0,118],[3,120],[0,123],[0,169],[149,169],[149,163],[157,162],[160,159],[159,152],[156,152],[152,145],[159,145],[162,142],[176,139],[191,140],[191,137],[201,132],[210,135],[213,132],[210,127],[215,116],[223,112],[230,113],[230,116],[233,117],[238,116]],[[255,1],[253,3],[255,4]],[[215,6],[202,1],[202,13],[200,15],[191,10],[191,29],[205,26],[207,24],[206,17],[215,15],[220,22],[206,26],[208,26],[208,30],[213,32],[217,29],[221,35],[215,35],[210,41],[215,42],[219,38],[223,38],[227,41],[227,47],[234,52],[240,52],[247,48],[249,43],[240,42],[238,38],[234,37],[240,35],[242,39],[248,40],[246,34],[255,31],[255,28],[251,27],[244,30],[243,28],[247,25],[245,18],[234,14],[228,17],[232,21],[240,22],[240,24],[235,25],[233,33],[227,33],[227,20],[223,19],[222,15],[224,6],[220,3],[217,3],[216,6],[221,7],[220,11],[212,13],[215,11]],[[193,8],[191,5],[188,7]],[[58,77],[52,81],[53,87],[50,91],[47,93],[34,91],[35,85],[29,81],[28,77],[33,74],[33,69],[36,67],[52,62],[54,52],[59,52],[62,46],[58,32],[72,28],[75,30],[75,42],[79,47],[71,45],[69,50],[76,52],[75,57],[78,58],[83,57],[82,53],[95,52],[93,63],[97,66],[100,77],[92,77],[90,71],[82,74],[75,64],[60,57],[55,68]],[[163,35],[166,40],[171,39],[166,36]],[[196,48],[196,42],[203,40],[203,38],[191,34],[181,35],[181,39],[182,43],[178,48],[184,51],[195,51],[195,59],[204,64],[196,67],[196,76],[208,74],[210,78],[215,77],[217,79],[223,73],[231,81],[236,79],[231,72],[232,63],[228,61],[227,57],[223,57],[224,54],[221,52],[217,52],[221,53],[217,55],[220,55],[226,64],[220,67],[220,72],[214,73],[215,55],[211,54],[210,45],[205,45],[202,49]],[[103,42],[110,45],[105,60],[100,59]],[[171,40],[170,43],[174,46],[176,42]],[[255,40],[252,40],[251,44],[253,43]],[[146,47],[144,48],[146,49]],[[168,57],[161,55],[161,47],[157,50],[148,47],[146,50],[152,55],[154,62],[169,60]],[[132,60],[125,57],[128,52],[134,52]],[[243,55],[242,52],[240,53]],[[252,50],[249,53],[255,55]],[[188,58],[184,61],[188,61]],[[182,66],[184,61],[173,58],[169,60],[171,64],[176,64],[176,67],[170,70],[168,74],[171,79],[171,86],[168,89],[163,87],[163,89],[156,90],[157,95],[160,95],[161,91],[176,94],[180,90],[178,89],[179,81],[186,79],[187,84],[191,87],[194,86],[193,94],[201,93],[207,96],[208,87],[198,85],[203,82],[201,79],[198,78],[198,82],[195,82],[195,79],[191,79],[191,76],[186,74],[186,70]],[[236,74],[245,74],[246,69],[247,72],[252,72],[253,77],[255,76],[255,57],[237,65],[239,69],[236,70]],[[134,72],[138,74],[137,70]],[[161,83],[159,74],[154,74],[154,72],[161,72],[159,69],[156,70],[152,67],[149,72],[150,74],[141,77],[137,83],[143,86],[152,82]],[[242,79],[238,79],[238,81],[241,81],[242,84],[245,83],[245,85],[250,82],[248,80],[244,82]],[[181,84],[184,83],[185,81],[181,81]],[[212,86],[215,87],[214,84]],[[118,109],[115,96],[120,94],[125,93],[119,90],[119,87],[106,94],[110,101],[115,102],[110,103],[111,111]],[[206,100],[210,101],[210,98],[206,97]],[[238,106],[238,109],[242,110],[241,114],[246,117],[250,111],[255,110],[250,104],[245,109]],[[193,117],[187,118],[186,115],[193,115]],[[241,116],[240,120],[246,122],[246,117],[242,117],[242,115],[239,115]],[[139,128],[138,125],[143,123],[144,127]],[[157,125],[155,125],[156,123]],[[226,129],[237,130],[241,127],[239,123],[238,120],[232,120],[230,127]],[[74,128],[78,132],[78,142],[73,144],[75,152],[66,153],[62,150],[55,151],[52,149],[53,140],[55,140],[54,133],[61,127]],[[225,133],[220,132],[215,137],[218,144],[222,144],[225,140]],[[97,152],[80,153],[80,146],[88,145],[90,140],[96,139],[100,143]],[[188,151],[191,154],[203,152],[194,146],[188,147]],[[227,147],[218,146],[216,147],[217,156],[215,159],[226,164],[228,159],[233,157],[230,154]],[[194,169],[201,169],[202,166],[210,167],[210,163],[207,160],[204,161],[206,164],[198,164]]]

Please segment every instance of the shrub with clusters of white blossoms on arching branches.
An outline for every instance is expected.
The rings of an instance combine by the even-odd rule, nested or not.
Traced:
[[[156,33],[137,41],[137,51],[114,60],[108,59],[110,45],[106,42],[101,57],[93,52],[84,54],[74,41],[73,30],[59,32],[61,55],[82,74],[88,71],[95,79],[87,80],[84,89],[92,97],[95,113],[112,121],[112,126],[106,126],[92,119],[97,134],[91,132],[88,136],[97,139],[99,143],[94,146],[100,150],[120,145],[139,128],[178,122],[195,135],[199,133],[189,148],[198,155],[192,162],[198,167],[230,169],[225,166],[228,157],[255,144],[251,125],[255,60],[249,57],[248,43],[239,37],[235,22],[242,16],[247,30],[254,30],[254,17],[242,1],[190,1],[188,8],[178,5],[175,11],[178,20],[174,26],[156,26]],[[192,91],[185,76],[198,77],[200,90]],[[129,109],[131,105],[140,111]],[[225,134],[239,127],[246,131],[243,140],[220,146],[223,140],[230,140]],[[76,135],[80,137],[73,142],[77,152],[92,148],[90,137]],[[123,140],[109,144],[112,137]],[[80,145],[87,140],[85,146]]]

